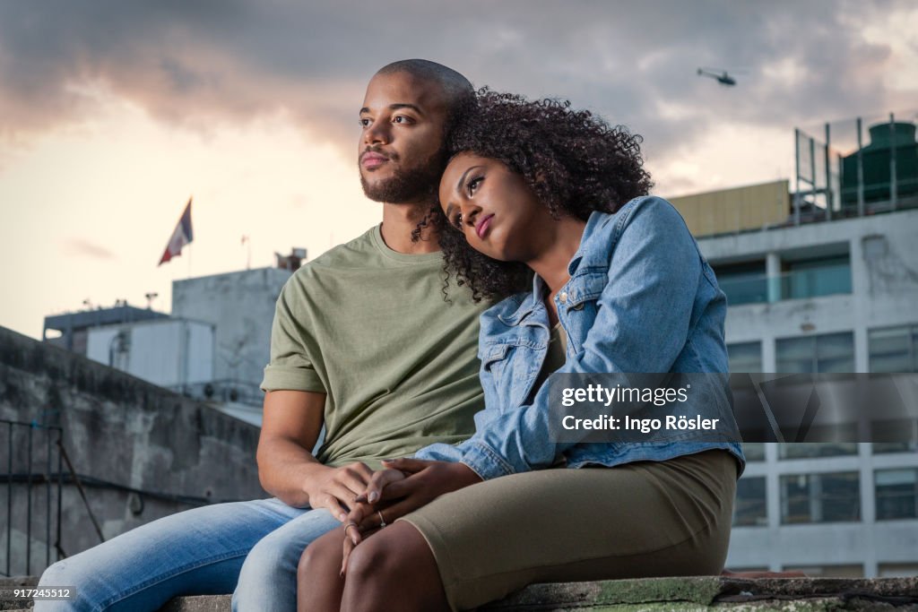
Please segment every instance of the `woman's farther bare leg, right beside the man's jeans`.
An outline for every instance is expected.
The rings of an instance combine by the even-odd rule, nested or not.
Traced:
[[[297,567],[297,612],[338,612],[341,609],[343,540],[344,529],[332,529],[303,551]]]

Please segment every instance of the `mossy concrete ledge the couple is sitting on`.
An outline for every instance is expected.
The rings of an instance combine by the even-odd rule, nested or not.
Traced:
[[[0,579],[0,587],[35,584],[33,577]],[[0,610],[27,610],[31,602],[0,601]],[[721,576],[641,578],[595,583],[533,584],[482,612],[571,610],[908,610],[918,612],[918,577],[762,578]],[[229,612],[229,595],[176,597],[161,612]]]

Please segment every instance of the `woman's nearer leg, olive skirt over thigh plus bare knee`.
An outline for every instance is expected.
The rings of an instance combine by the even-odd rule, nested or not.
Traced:
[[[735,482],[733,457],[708,451],[476,484],[358,546],[341,610],[437,610],[444,597],[461,610],[536,582],[716,575]]]

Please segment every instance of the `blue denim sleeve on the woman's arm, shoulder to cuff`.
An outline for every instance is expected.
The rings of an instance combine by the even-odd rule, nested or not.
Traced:
[[[609,247],[614,251],[597,317],[582,350],[569,356],[559,373],[667,373],[688,339],[704,272],[682,217],[664,200],[642,198],[614,222]],[[482,384],[487,407],[476,415],[475,435],[455,447],[422,449],[418,457],[461,461],[487,480],[548,467],[573,446],[550,442],[547,384],[532,405],[516,409],[501,407],[485,372]]]

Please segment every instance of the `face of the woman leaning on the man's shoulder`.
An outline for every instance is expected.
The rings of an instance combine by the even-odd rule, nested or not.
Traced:
[[[467,152],[446,166],[440,206],[473,249],[500,261],[530,261],[553,220],[520,174]]]

